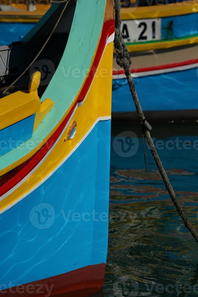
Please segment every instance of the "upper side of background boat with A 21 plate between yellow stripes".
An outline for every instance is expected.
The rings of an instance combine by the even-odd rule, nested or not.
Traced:
[[[121,9],[122,32],[130,52],[198,43],[196,2],[150,5],[154,1],[147,1],[147,6],[139,7],[131,2],[127,0],[129,5]]]

